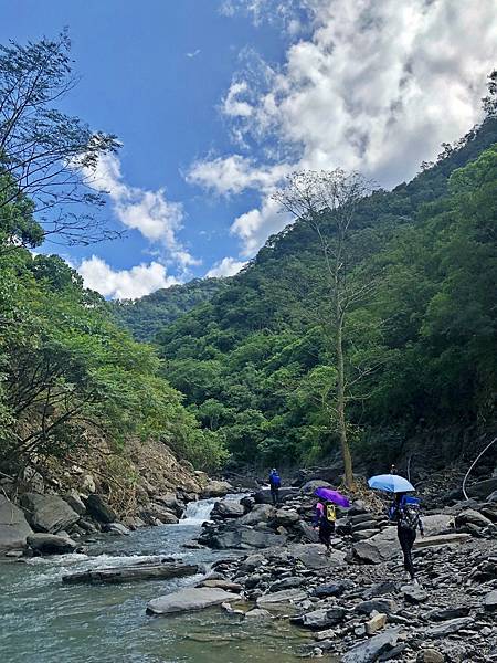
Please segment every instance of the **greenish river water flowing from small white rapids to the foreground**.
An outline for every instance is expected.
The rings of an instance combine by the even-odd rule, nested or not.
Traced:
[[[101,535],[87,555],[0,562],[1,663],[278,663],[296,661],[303,636],[287,622],[251,624],[219,608],[154,618],[147,602],[193,585],[199,577],[125,585],[62,585],[68,572],[173,555],[209,565],[226,552],[190,550],[213,501],[189,505],[178,525],[138,529],[129,536]]]

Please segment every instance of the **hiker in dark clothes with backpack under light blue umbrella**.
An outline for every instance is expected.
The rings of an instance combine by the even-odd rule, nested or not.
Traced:
[[[419,585],[412,561],[412,547],[416,540],[417,529],[424,536],[420,516],[420,501],[408,493],[415,492],[414,486],[399,474],[378,474],[368,481],[370,488],[393,494],[393,504],[389,508],[389,518],[396,523],[396,536],[404,555],[404,569],[408,579]]]

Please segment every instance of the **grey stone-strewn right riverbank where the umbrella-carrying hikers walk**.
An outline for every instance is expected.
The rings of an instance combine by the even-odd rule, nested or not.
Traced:
[[[343,663],[497,661],[497,495],[425,515],[416,586],[379,503],[342,511],[327,555],[308,525],[314,487],[283,492],[277,508],[264,491],[218,502],[199,543],[237,556],[148,611],[222,604],[233,619],[289,620],[314,640],[300,655]]]

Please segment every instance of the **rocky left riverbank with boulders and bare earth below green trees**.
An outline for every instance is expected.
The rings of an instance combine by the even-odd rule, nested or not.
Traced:
[[[81,465],[44,477],[31,473],[30,481],[20,483],[3,477],[0,556],[73,552],[88,534],[126,535],[138,527],[175,524],[188,503],[221,497],[231,490],[226,482],[213,481],[178,461],[163,444],[136,445],[127,462],[134,481],[126,499],[107,475],[104,481],[102,474]]]

